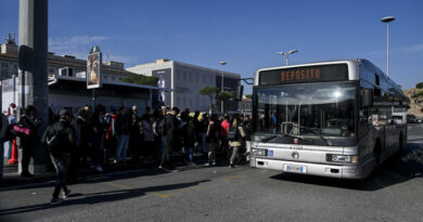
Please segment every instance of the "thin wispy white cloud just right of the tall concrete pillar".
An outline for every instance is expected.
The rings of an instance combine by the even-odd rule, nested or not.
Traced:
[[[56,54],[82,55],[87,54],[93,44],[110,40],[104,36],[73,36],[49,39],[49,51]]]

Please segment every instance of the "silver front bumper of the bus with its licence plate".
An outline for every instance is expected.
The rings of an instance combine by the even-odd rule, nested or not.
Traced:
[[[252,157],[249,166],[253,168],[277,170],[289,173],[320,175],[338,179],[363,179],[362,168],[359,166],[339,166],[324,164],[296,162],[279,159]]]

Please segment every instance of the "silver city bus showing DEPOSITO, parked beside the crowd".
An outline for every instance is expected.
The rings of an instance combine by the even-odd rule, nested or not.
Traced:
[[[407,142],[407,97],[367,60],[259,69],[253,168],[366,179]]]

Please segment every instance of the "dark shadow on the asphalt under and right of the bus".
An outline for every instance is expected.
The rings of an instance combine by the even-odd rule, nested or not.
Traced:
[[[367,180],[341,180],[294,173],[280,173],[271,179],[372,192],[407,182],[413,178],[421,178],[422,174],[423,143],[414,142],[409,143],[401,155],[393,156],[384,162],[381,170]]]

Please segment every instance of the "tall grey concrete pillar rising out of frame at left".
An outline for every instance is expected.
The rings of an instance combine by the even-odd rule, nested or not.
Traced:
[[[18,39],[18,107],[23,109],[27,105],[34,105],[37,108],[37,118],[41,120],[38,127],[38,136],[41,138],[49,118],[47,84],[48,0],[20,0]],[[29,165],[29,171],[41,173],[46,172],[47,168],[48,153],[39,144]],[[21,169],[20,161],[20,171]]]

